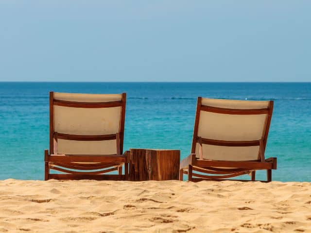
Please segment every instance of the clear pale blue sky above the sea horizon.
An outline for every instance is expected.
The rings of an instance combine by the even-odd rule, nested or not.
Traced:
[[[0,0],[0,81],[310,82],[311,0]]]

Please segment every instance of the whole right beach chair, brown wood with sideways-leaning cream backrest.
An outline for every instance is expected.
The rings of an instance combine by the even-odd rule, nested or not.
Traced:
[[[267,170],[272,180],[276,158],[265,159],[273,101],[216,100],[198,97],[191,154],[180,163],[179,179],[221,181]],[[195,173],[199,172],[199,173]],[[240,180],[248,181],[248,180]]]

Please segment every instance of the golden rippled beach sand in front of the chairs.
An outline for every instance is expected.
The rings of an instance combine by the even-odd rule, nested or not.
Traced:
[[[9,179],[0,232],[311,232],[311,183]]]

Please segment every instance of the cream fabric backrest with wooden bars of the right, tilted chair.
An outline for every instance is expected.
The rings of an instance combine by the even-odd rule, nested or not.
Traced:
[[[263,151],[266,147],[272,112],[272,100],[198,97],[191,153],[209,160],[258,160],[259,144]]]

